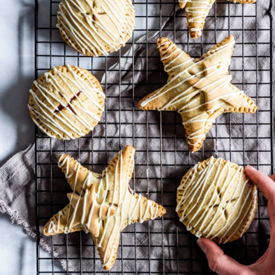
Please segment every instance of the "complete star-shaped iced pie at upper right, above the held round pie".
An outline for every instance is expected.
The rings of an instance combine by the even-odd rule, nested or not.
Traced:
[[[201,148],[205,135],[222,112],[254,113],[257,106],[230,83],[228,67],[235,40],[228,36],[200,58],[191,58],[168,38],[157,40],[167,83],[142,98],[143,110],[177,111],[186,131],[188,148]]]

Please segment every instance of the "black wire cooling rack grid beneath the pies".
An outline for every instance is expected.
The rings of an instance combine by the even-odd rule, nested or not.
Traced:
[[[152,80],[150,61],[151,58],[158,58],[158,56],[148,56],[148,48],[155,46],[147,39],[144,42],[146,49],[145,56],[141,56],[145,60],[145,79],[141,83],[134,83],[134,74],[138,73],[138,69],[134,66],[131,69],[132,81],[130,83],[121,83],[121,73],[123,67],[118,66],[116,73],[119,74],[119,81],[108,83],[107,73],[111,70],[110,65],[119,62],[121,58],[130,58],[132,62],[140,56],[123,57],[123,48],[116,53],[109,56],[101,57],[87,57],[79,55],[70,50],[61,40],[55,27],[56,23],[56,9],[59,1],[55,0],[35,0],[35,78],[38,75],[48,70],[52,65],[60,65],[63,63],[70,63],[80,65],[88,68],[98,79],[105,74],[101,81],[101,85],[106,93],[105,113],[101,122],[96,126],[95,130],[85,137],[81,137],[73,141],[56,141],[35,128],[35,190],[36,190],[36,228],[39,228],[48,220],[49,217],[66,204],[65,194],[70,191],[65,183],[64,177],[58,172],[56,168],[56,156],[61,152],[67,152],[77,158],[81,164],[87,165],[92,170],[100,172],[102,168],[108,163],[115,153],[124,147],[126,143],[133,146],[140,145],[136,149],[135,158],[141,159],[136,161],[133,179],[130,182],[131,186],[136,192],[155,199],[167,209],[167,214],[162,218],[154,221],[146,222],[142,225],[130,225],[121,233],[121,242],[119,245],[117,259],[112,269],[106,273],[126,273],[126,274],[205,274],[210,273],[204,255],[200,252],[195,243],[195,237],[186,231],[185,227],[178,221],[175,208],[175,193],[176,187],[179,184],[181,176],[186,170],[197,161],[200,161],[210,155],[223,156],[229,160],[234,160],[235,154],[241,155],[242,163],[238,164],[252,164],[257,168],[261,168],[266,173],[273,173],[273,30],[272,30],[272,0],[270,0],[268,13],[267,28],[258,28],[258,10],[257,4],[252,4],[254,12],[252,14],[245,14],[244,7],[241,7],[241,14],[234,14],[232,10],[232,3],[230,2],[216,2],[213,6],[212,13],[207,17],[208,20],[214,20],[213,27],[205,25],[204,32],[214,33],[214,41],[216,43],[216,35],[219,32],[225,31],[226,34],[240,31],[242,39],[237,41],[237,46],[241,47],[241,55],[235,55],[241,68],[234,68],[231,66],[231,73],[242,75],[242,79],[237,84],[241,88],[248,87],[248,90],[254,90],[252,98],[256,103],[260,104],[261,100],[269,102],[268,105],[262,106],[254,116],[246,116],[245,114],[238,115],[241,122],[234,119],[234,115],[225,114],[225,119],[218,118],[216,123],[212,126],[211,131],[207,135],[202,150],[197,153],[190,154],[184,138],[184,130],[178,115],[173,112],[143,112],[136,109],[136,102],[147,93],[153,91],[154,87],[159,87],[165,83],[165,73],[161,65],[157,72],[158,77]],[[141,34],[148,34],[150,31],[160,31],[161,23],[170,16],[167,12],[169,9],[175,11],[175,6],[178,4],[176,0],[133,0],[136,10],[136,20],[141,20],[140,28],[135,28],[132,38],[126,43],[126,48],[136,42],[137,36]],[[227,14],[217,14],[218,5],[226,5],[228,8]],[[231,11],[231,12],[230,12]],[[182,27],[173,27],[166,29],[169,31],[170,38],[175,39],[179,31],[184,31],[186,34],[186,18],[184,15],[176,16],[173,12],[173,20],[182,20]],[[179,17],[179,18],[178,18]],[[182,18],[184,17],[184,18]],[[223,18],[228,21],[227,28],[219,28],[216,24],[218,18]],[[230,19],[240,18],[241,28],[230,28]],[[246,27],[246,20],[251,19],[255,21],[254,27]],[[151,20],[157,23],[150,24]],[[255,36],[254,43],[246,43],[244,35],[247,32]],[[266,33],[266,41],[258,41],[260,32]],[[205,52],[209,48],[208,42],[204,42],[204,35],[201,39],[191,41],[188,34],[185,41],[176,41],[177,44],[184,47],[189,52],[189,49],[196,49],[197,56]],[[252,45],[252,50],[249,54],[245,53],[245,46]],[[266,55],[259,56],[257,48],[264,45],[266,47]],[[56,53],[57,48],[57,53]],[[192,54],[194,56],[194,54]],[[194,56],[196,57],[196,56]],[[255,68],[245,68],[245,58],[254,58]],[[258,62],[260,58],[265,58],[268,62],[269,68],[259,68]],[[84,61],[83,61],[84,60]],[[98,61],[99,60],[99,61]],[[97,63],[98,61],[98,63]],[[82,65],[84,62],[85,65]],[[159,61],[160,63],[160,61]],[[260,78],[259,72],[265,71],[267,78]],[[251,82],[245,82],[245,73],[255,75]],[[155,80],[157,78],[157,80]],[[234,79],[234,77],[233,77]],[[116,85],[117,93],[109,92],[109,84]],[[120,93],[120,90],[128,85],[129,92]],[[261,95],[262,87],[265,92]],[[141,93],[141,90],[145,91]],[[251,94],[249,94],[251,95]],[[113,101],[114,100],[114,101]],[[123,100],[127,105],[123,104]],[[117,104],[113,104],[117,102]],[[115,105],[116,107],[113,107]],[[263,104],[261,104],[263,105]],[[111,108],[109,106],[112,106]],[[116,115],[114,114],[116,112]],[[262,122],[261,113],[264,116],[269,116],[269,122]],[[111,117],[117,120],[112,121]],[[128,119],[125,119],[125,116]],[[245,133],[246,127],[253,127],[251,136]],[[262,126],[268,127],[268,135],[260,134]],[[107,129],[115,127],[117,131],[115,134],[107,134]],[[131,135],[123,135],[124,127],[131,127]],[[224,127],[229,129],[229,135],[224,134]],[[158,128],[158,131],[154,131]],[[167,130],[168,128],[168,130]],[[241,135],[235,136],[233,134],[234,128],[239,129]],[[141,134],[142,133],[142,134]],[[224,134],[224,135],[223,135]],[[219,142],[223,140],[227,142],[227,149],[219,148]],[[246,144],[254,142],[252,149],[247,149]],[[260,144],[267,144],[266,147]],[[169,144],[169,147],[167,146]],[[172,145],[171,145],[172,144]],[[171,149],[172,147],[172,149]],[[236,149],[232,150],[231,147]],[[169,157],[168,157],[169,155]],[[173,157],[171,157],[173,155]],[[250,162],[249,156],[255,156],[256,162]],[[264,158],[264,159],[263,159]],[[169,161],[167,161],[169,159]],[[173,161],[171,161],[173,159]],[[46,167],[46,168],[45,168]],[[261,216],[262,210],[266,207],[266,202],[259,195],[258,211],[255,216],[254,223],[257,230],[249,229],[246,234],[237,241],[223,246],[226,253],[233,256],[244,264],[253,262],[263,253],[266,248],[266,243],[263,243],[265,236],[261,235],[260,223],[268,218]],[[167,227],[168,226],[168,227]],[[167,229],[168,228],[168,229]],[[73,235],[71,237],[71,235]],[[130,237],[128,237],[130,236]],[[254,241],[249,241],[250,236],[253,236]],[[256,236],[256,237],[255,237]],[[55,274],[63,273],[69,274],[71,270],[60,269],[58,260],[68,263],[73,261],[79,269],[73,274],[97,274],[105,273],[101,268],[96,269],[96,262],[99,261],[98,254],[92,242],[83,232],[76,232],[65,235],[62,243],[56,243],[55,237],[50,238],[51,248],[63,246],[66,249],[65,257],[56,257],[51,254],[48,257],[40,256],[40,241],[42,236],[37,237],[36,247],[36,262],[37,274]],[[133,241],[128,239],[132,238]],[[140,243],[140,238],[143,242]],[[255,240],[256,239],[256,240]],[[71,249],[76,253],[71,254]],[[84,250],[88,250],[89,254],[83,255]],[[144,251],[146,250],[146,253]],[[130,251],[126,253],[127,251]],[[130,256],[129,256],[130,255]],[[90,262],[90,269],[83,269],[86,262]],[[84,263],[85,262],[85,263]],[[156,268],[157,265],[157,268]],[[68,266],[68,265],[67,265]],[[130,266],[130,269],[128,268]]]

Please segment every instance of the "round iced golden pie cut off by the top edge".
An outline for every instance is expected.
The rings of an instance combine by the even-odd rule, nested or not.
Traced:
[[[131,0],[62,0],[57,24],[63,40],[85,55],[107,55],[132,35]]]

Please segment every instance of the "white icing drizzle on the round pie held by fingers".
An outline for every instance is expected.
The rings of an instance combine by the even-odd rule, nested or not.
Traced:
[[[247,186],[248,179],[244,182],[241,182],[243,167],[240,166],[238,169],[231,168],[229,161],[227,161],[224,165],[222,158],[215,159],[213,156],[210,157],[205,168],[199,170],[199,165],[200,163],[197,163],[192,169],[188,171],[184,182],[181,183],[177,188],[178,190],[183,190],[183,192],[180,200],[176,205],[176,211],[178,212],[184,204],[186,205],[188,203],[188,201],[193,201],[194,199],[196,199],[197,202],[194,203],[191,207],[187,206],[183,209],[179,220],[183,221],[192,212],[192,216],[190,217],[186,225],[187,230],[191,230],[192,228],[199,225],[195,233],[196,237],[200,237],[201,235],[203,235],[205,237],[213,239],[214,237],[222,233],[219,242],[225,243],[239,229],[240,225],[242,224],[244,218],[246,217],[248,211],[251,210],[251,208],[253,212],[253,209],[256,205],[256,200],[251,199],[251,188],[249,188],[246,194],[244,192],[245,186]],[[210,180],[209,176],[211,175],[213,169],[216,169],[215,174],[212,175],[213,179],[211,179],[210,185],[206,186],[207,182],[209,182]],[[218,187],[220,186],[221,176],[223,175],[226,176],[220,187],[220,190],[218,190]],[[216,195],[217,192],[228,192],[232,182],[234,182],[236,178],[238,178],[238,183],[235,185],[230,198],[227,199],[227,201],[225,201],[225,196],[219,198],[219,196]],[[244,207],[247,204],[247,200],[249,198],[250,202],[244,211]],[[213,230],[216,228],[218,222],[224,216],[224,209],[222,207],[229,204],[231,204],[232,207],[228,216],[225,219],[225,223],[215,234],[213,234]],[[212,222],[208,222],[209,214],[212,213],[214,206],[216,208],[213,217],[211,217]],[[238,214],[232,220],[232,213],[236,210],[236,207],[238,206]],[[197,210],[193,211],[195,207],[197,207]],[[204,210],[201,211],[201,209]],[[239,219],[240,215],[242,215],[241,219]],[[194,221],[195,219],[196,221]],[[208,222],[208,224],[206,224],[206,222]],[[228,231],[232,227],[234,227],[234,230],[230,233],[230,235],[227,236]],[[242,229],[241,235],[243,234],[244,230],[245,228]]]

